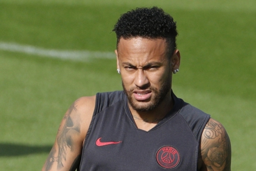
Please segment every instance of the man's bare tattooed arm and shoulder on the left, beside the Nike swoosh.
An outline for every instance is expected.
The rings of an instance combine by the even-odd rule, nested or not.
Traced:
[[[65,113],[42,171],[75,171],[95,106],[95,96],[79,98]]]

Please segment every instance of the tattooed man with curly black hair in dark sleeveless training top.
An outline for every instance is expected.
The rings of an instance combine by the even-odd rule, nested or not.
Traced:
[[[117,71],[124,91],[74,102],[43,171],[230,171],[224,127],[172,92],[176,23],[157,7],[121,16]]]

